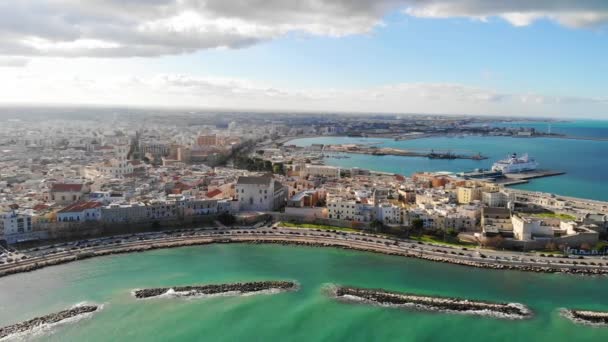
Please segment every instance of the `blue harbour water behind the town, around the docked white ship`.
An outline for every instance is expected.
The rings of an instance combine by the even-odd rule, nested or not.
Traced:
[[[608,135],[608,126],[605,128]],[[420,171],[471,171],[489,169],[499,159],[511,153],[529,153],[540,168],[565,171],[566,174],[532,180],[516,188],[551,192],[565,196],[608,200],[608,141],[569,140],[555,138],[512,138],[467,136],[438,137],[406,141],[377,138],[322,137],[293,140],[290,143],[307,146],[312,143],[377,143],[378,146],[421,151],[450,150],[453,153],[481,153],[487,160],[442,160],[399,156],[350,154],[348,159],[327,158],[326,164],[340,167],[360,167],[411,175]]]

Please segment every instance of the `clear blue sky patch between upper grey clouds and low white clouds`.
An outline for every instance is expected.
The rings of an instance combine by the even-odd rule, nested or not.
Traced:
[[[246,49],[167,58],[165,71],[266,79],[283,86],[450,82],[509,92],[606,95],[608,36],[540,21],[422,19],[393,14],[370,34],[291,34]],[[288,77],[286,77],[288,75]]]

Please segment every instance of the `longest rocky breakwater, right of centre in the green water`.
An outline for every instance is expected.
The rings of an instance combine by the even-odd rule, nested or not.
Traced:
[[[363,301],[372,304],[412,307],[421,310],[524,319],[532,312],[523,304],[494,303],[449,297],[420,296],[409,293],[338,286],[334,295],[339,299]]]

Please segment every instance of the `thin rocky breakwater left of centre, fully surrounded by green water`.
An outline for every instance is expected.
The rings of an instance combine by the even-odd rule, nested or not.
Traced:
[[[217,295],[223,293],[255,293],[268,290],[295,290],[295,282],[291,281],[257,281],[250,283],[210,284],[200,286],[174,286],[152,289],[135,290],[134,295],[138,299],[158,297],[173,292],[182,297]]]

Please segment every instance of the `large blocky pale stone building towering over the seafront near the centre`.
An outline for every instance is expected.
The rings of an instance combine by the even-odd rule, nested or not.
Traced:
[[[240,211],[275,211],[284,206],[285,198],[285,187],[271,176],[242,176],[237,180]]]

